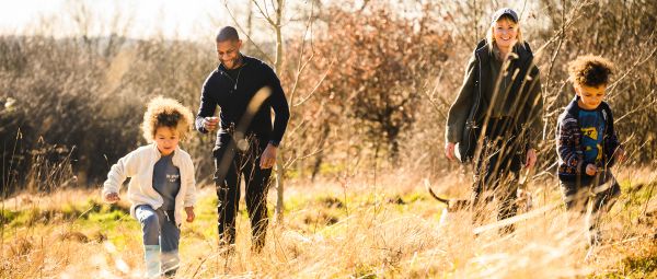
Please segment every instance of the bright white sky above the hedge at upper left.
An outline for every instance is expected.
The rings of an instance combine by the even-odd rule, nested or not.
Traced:
[[[245,9],[246,3],[231,1],[231,7]],[[0,0],[2,35],[60,37],[87,30],[90,36],[114,31],[131,37],[198,40],[224,24],[232,24],[224,0]]]

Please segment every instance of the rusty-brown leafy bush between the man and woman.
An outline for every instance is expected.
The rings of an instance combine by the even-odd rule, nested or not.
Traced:
[[[336,61],[321,91],[335,94],[342,113],[356,119],[374,147],[399,155],[400,136],[423,116],[417,114],[423,83],[447,59],[449,36],[396,16],[385,5],[360,16],[333,8],[327,34],[316,49]]]

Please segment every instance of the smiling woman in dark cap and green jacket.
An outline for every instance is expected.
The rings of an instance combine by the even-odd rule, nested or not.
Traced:
[[[542,111],[539,69],[522,39],[518,14],[500,9],[468,62],[446,127],[446,156],[474,162],[475,222],[493,197],[499,201],[498,220],[516,214],[518,174],[522,165],[532,168],[537,162]]]

